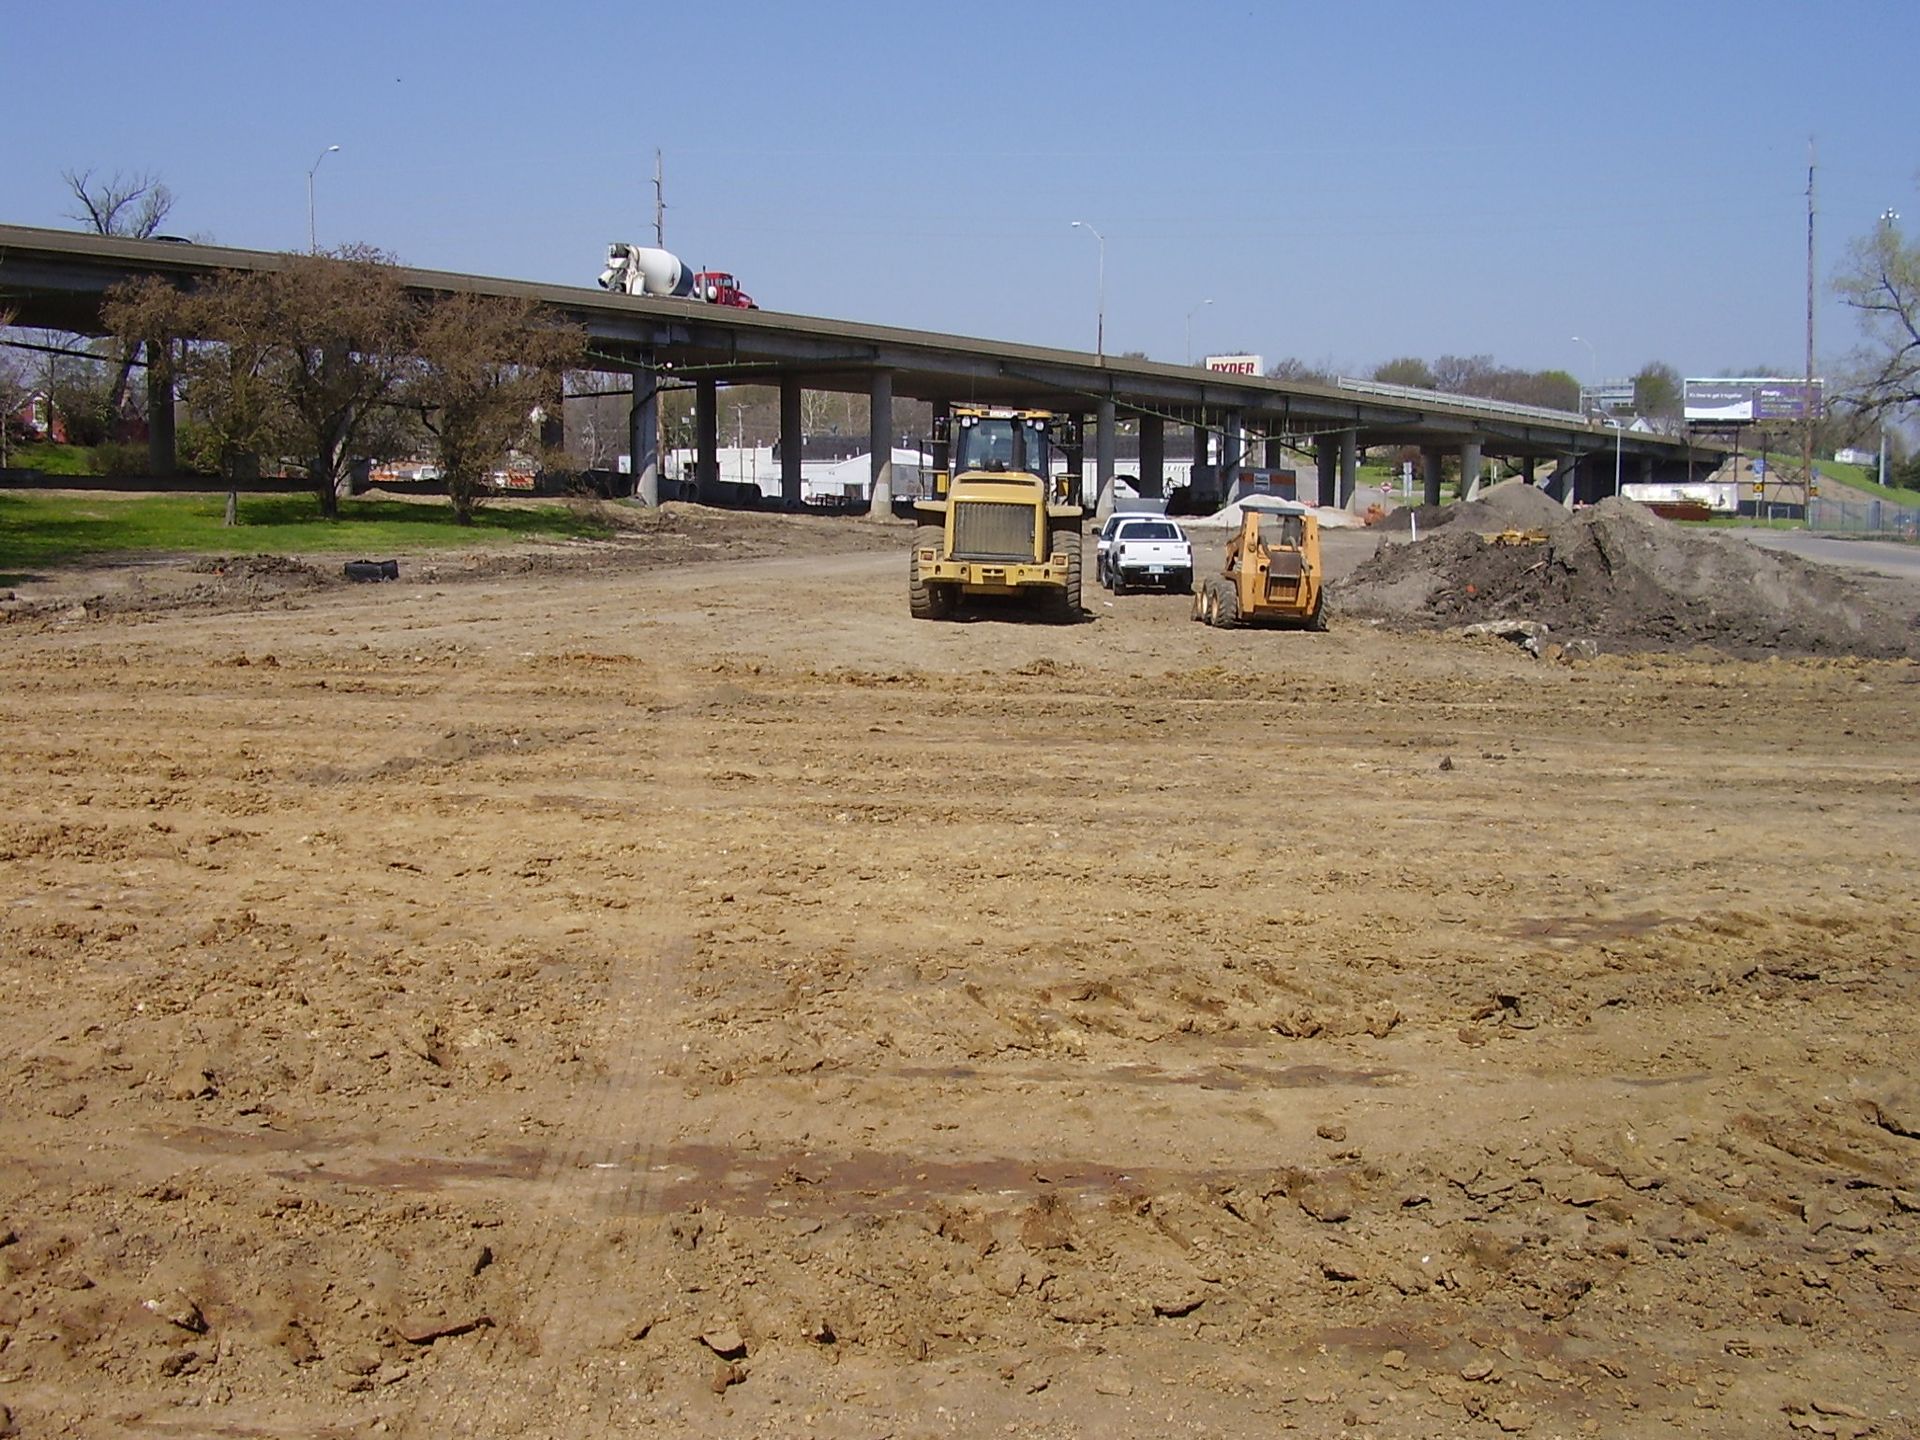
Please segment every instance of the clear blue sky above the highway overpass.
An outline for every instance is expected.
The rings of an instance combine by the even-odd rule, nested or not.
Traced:
[[[1181,361],[1797,369],[1818,267],[1920,223],[1914,0],[12,6],[0,221],[152,171],[169,230]],[[1212,300],[1212,305],[1202,301]],[[1574,344],[1572,336],[1584,336]],[[1853,323],[1820,303],[1820,355]]]

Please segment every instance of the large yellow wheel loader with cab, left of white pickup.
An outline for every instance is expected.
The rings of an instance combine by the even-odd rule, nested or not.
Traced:
[[[933,495],[914,501],[908,557],[916,620],[948,620],[968,595],[1027,595],[1050,620],[1079,620],[1085,511],[1048,465],[1048,444],[1069,430],[1050,411],[1004,405],[954,405],[935,422]]]

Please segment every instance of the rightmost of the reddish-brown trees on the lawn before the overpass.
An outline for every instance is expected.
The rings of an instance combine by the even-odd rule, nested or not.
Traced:
[[[434,436],[453,515],[472,524],[493,465],[526,438],[536,407],[561,403],[561,374],[586,334],[530,300],[449,296],[428,307],[401,401]]]

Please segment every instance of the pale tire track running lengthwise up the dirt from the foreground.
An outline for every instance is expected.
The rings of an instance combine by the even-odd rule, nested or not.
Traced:
[[[664,791],[662,804],[707,808],[712,745],[695,682],[674,666],[659,670],[653,685],[645,703],[653,722],[649,783]],[[595,1271],[589,1248],[626,1238],[632,1244],[618,1250],[626,1273],[657,1283],[668,1269],[670,1233],[659,1213],[662,1160],[682,1106],[666,1073],[678,1031],[666,1021],[693,947],[684,899],[691,877],[691,860],[676,856],[634,879],[647,891],[624,912],[636,918],[637,943],[611,964],[599,1021],[605,1041],[584,1056],[599,1073],[566,1106],[532,1192],[518,1202],[532,1244],[518,1263],[516,1313],[493,1315],[459,1359],[436,1367],[428,1394],[399,1419],[397,1434],[595,1436],[632,1428],[616,1405],[622,1396],[601,1394],[622,1379],[620,1359],[609,1352],[597,1361],[595,1352],[630,1338],[645,1317],[628,1315],[620,1332],[609,1332],[605,1308],[595,1315],[580,1304],[582,1275]],[[597,1375],[601,1365],[614,1373]]]

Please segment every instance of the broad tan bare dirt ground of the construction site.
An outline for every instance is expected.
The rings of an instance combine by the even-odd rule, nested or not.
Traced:
[[[1920,1432],[1920,666],[885,532],[19,603],[0,1430]]]

